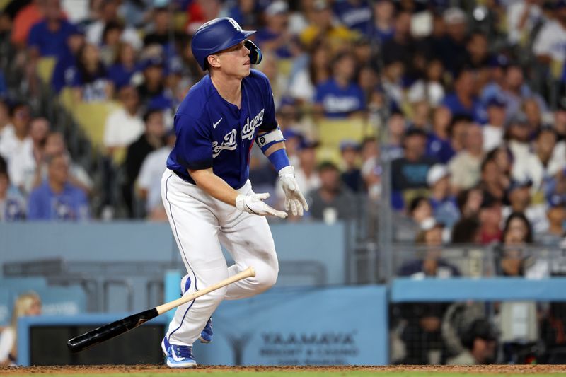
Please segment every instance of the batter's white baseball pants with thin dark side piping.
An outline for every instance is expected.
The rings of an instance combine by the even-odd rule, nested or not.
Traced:
[[[252,192],[250,181],[238,192]],[[185,294],[220,282],[248,266],[255,269],[255,277],[177,308],[167,331],[168,340],[171,344],[192,345],[222,300],[254,296],[275,284],[279,272],[275,243],[265,217],[238,211],[168,169],[161,178],[161,198],[191,280]],[[221,243],[233,257],[235,264],[231,267],[226,265]]]

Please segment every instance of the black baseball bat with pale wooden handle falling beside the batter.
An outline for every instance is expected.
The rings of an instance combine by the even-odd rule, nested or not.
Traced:
[[[85,332],[83,335],[79,335],[78,337],[70,339],[67,342],[67,347],[71,352],[80,352],[85,349],[91,348],[93,346],[96,346],[96,344],[100,344],[109,339],[112,339],[113,337],[122,335],[123,333],[132,330],[153,318],[156,318],[158,315],[161,315],[166,311],[170,311],[173,308],[183,305],[183,303],[187,303],[194,300],[195,298],[209,294],[210,292],[216,291],[216,289],[219,289],[223,286],[238,282],[238,280],[246,279],[246,277],[255,277],[255,270],[253,269],[253,267],[248,267],[239,274],[236,274],[233,277],[229,277],[228,279],[224,279],[221,282],[218,282],[205,289],[201,289],[200,291],[196,291],[194,294],[189,294],[181,298],[177,298],[176,300],[170,301],[168,303],[163,303],[163,305],[156,306],[153,309],[129,315],[126,318],[122,318],[121,320],[116,320],[112,323],[108,323],[108,325],[103,325],[89,332]]]

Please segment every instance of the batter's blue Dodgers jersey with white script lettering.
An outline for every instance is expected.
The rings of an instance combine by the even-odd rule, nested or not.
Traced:
[[[238,189],[248,180],[250,151],[258,130],[277,127],[269,80],[251,69],[242,80],[238,108],[221,97],[209,75],[204,76],[190,88],[173,124],[177,141],[167,167],[193,184],[187,169],[212,167],[214,174]]]

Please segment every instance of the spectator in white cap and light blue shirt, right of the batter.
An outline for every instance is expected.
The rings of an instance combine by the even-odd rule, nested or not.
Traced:
[[[450,172],[445,165],[435,164],[427,173],[427,184],[430,187],[430,204],[434,219],[447,228],[452,228],[460,218],[456,197],[451,195]]]

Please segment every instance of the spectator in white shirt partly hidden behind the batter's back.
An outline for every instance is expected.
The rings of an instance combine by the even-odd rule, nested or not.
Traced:
[[[153,221],[167,221],[161,201],[161,176],[175,140],[175,129],[171,129],[166,135],[167,144],[147,155],[137,175],[137,194],[145,200],[147,217]]]

